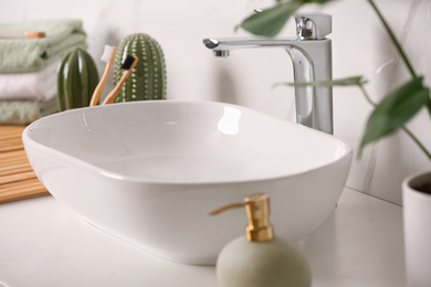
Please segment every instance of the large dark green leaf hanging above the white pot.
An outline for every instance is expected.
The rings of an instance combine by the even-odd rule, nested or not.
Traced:
[[[389,94],[368,118],[359,155],[364,147],[402,127],[419,109],[429,105],[430,91],[423,86],[423,77],[416,77]]]

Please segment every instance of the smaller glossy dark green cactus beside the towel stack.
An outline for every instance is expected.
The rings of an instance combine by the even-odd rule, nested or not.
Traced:
[[[87,107],[98,83],[92,56],[82,49],[69,52],[57,72],[59,110]]]

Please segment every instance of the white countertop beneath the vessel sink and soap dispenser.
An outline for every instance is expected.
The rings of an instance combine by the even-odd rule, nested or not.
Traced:
[[[335,212],[298,246],[313,287],[406,285],[402,208],[391,203],[345,189]],[[211,287],[217,280],[213,267],[149,255],[44,196],[0,205],[0,286]]]

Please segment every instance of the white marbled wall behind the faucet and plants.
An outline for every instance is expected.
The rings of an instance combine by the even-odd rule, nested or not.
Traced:
[[[376,0],[408,51],[418,73],[430,75],[431,0]],[[168,68],[168,97],[223,100],[293,119],[293,91],[272,89],[275,82],[292,81],[292,64],[284,51],[234,51],[216,59],[201,44],[207,36],[239,36],[233,32],[254,8],[272,0],[0,0],[0,21],[41,18],[80,18],[88,33],[90,52],[99,59],[105,44],[145,32],[164,47]],[[403,81],[408,73],[366,0],[334,0],[322,7],[334,15],[334,76],[364,75],[375,100]],[[283,31],[294,34],[291,22]],[[99,63],[103,71],[103,63]],[[358,88],[336,87],[335,135],[355,150],[371,107]],[[427,113],[409,125],[431,148]],[[401,204],[400,182],[408,174],[430,169],[430,162],[402,132],[369,146],[356,159],[347,185]]]

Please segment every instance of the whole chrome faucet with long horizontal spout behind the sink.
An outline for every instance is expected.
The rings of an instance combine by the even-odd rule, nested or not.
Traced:
[[[293,62],[294,82],[330,81],[333,77],[332,15],[298,13],[296,38],[209,38],[203,44],[214,56],[227,57],[236,49],[284,49]],[[333,134],[332,86],[295,86],[296,121]]]

